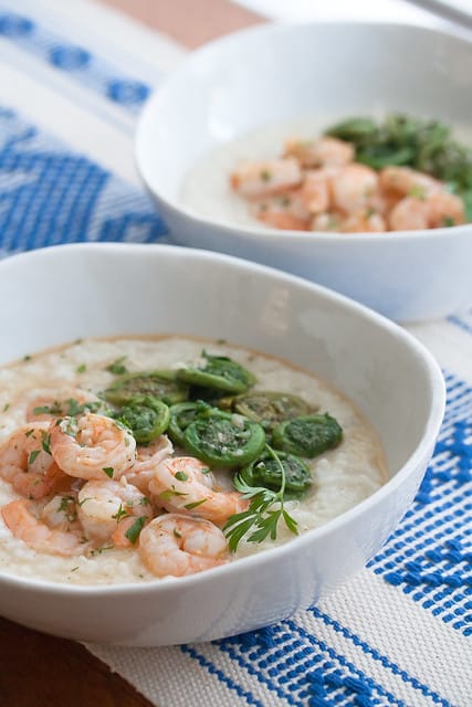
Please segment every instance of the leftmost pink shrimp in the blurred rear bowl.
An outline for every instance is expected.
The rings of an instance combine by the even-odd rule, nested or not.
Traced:
[[[296,159],[245,162],[232,172],[230,181],[242,197],[266,197],[297,187],[302,181],[302,169]]]

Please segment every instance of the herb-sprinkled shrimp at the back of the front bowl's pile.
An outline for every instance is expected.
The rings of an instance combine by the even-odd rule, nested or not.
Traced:
[[[90,403],[90,409],[87,409]],[[42,392],[27,408],[28,421],[55,420],[78,412],[92,412],[102,404],[94,393],[81,388],[70,388],[60,392]]]

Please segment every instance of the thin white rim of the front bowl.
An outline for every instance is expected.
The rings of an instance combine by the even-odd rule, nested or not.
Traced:
[[[239,558],[235,561],[230,561],[224,566],[216,567],[203,572],[196,574],[189,574],[186,577],[166,577],[156,578],[155,580],[140,582],[119,582],[116,584],[66,584],[52,580],[43,580],[36,578],[15,577],[14,574],[3,574],[0,571],[0,585],[6,584],[15,587],[24,591],[33,590],[38,593],[44,594],[64,594],[67,597],[101,597],[101,595],[114,595],[119,597],[122,594],[148,594],[155,592],[177,591],[178,589],[186,590],[192,584],[199,584],[200,582],[218,581],[219,577],[223,574],[231,574],[233,572],[240,572],[243,569],[250,570],[251,567],[259,567],[263,563],[271,563],[272,561],[283,561],[285,556],[295,550],[295,545],[298,548],[307,546],[313,541],[323,540],[325,536],[332,531],[337,530],[343,525],[349,524],[352,520],[357,519],[359,516],[368,514],[369,510],[381,503],[385,498],[390,496],[405,481],[415,472],[417,466],[429,460],[431,456],[431,447],[438,437],[444,408],[445,408],[445,384],[441,372],[441,369],[436,361],[432,354],[422,345],[412,334],[395,324],[387,317],[374,312],[373,309],[357,303],[345,295],[338,294],[322,285],[317,285],[310,281],[306,281],[296,275],[279,271],[273,267],[252,263],[240,257],[232,255],[225,255],[222,253],[213,253],[200,249],[182,247],[178,245],[169,244],[135,244],[135,243],[69,243],[62,245],[53,245],[48,247],[29,251],[25,253],[19,253],[9,256],[0,261],[0,273],[4,267],[19,263],[21,266],[22,261],[34,261],[35,258],[48,257],[48,254],[54,256],[55,253],[64,253],[65,257],[74,257],[76,252],[92,252],[102,253],[104,257],[111,251],[116,252],[140,252],[143,256],[146,253],[150,253],[150,250],[156,253],[156,257],[159,260],[159,254],[169,252],[170,254],[179,254],[179,258],[200,258],[213,261],[214,263],[221,263],[222,265],[229,265],[235,271],[249,272],[254,275],[269,276],[269,278],[276,278],[283,281],[289,286],[302,287],[305,291],[313,293],[315,296],[321,296],[322,299],[335,302],[343,306],[343,308],[350,309],[354,314],[370,320],[377,327],[385,330],[388,336],[392,336],[396,339],[400,339],[405,346],[410,349],[413,357],[422,360],[424,371],[428,374],[429,392],[431,394],[431,407],[428,415],[424,420],[423,431],[421,434],[418,446],[413,450],[412,454],[408,457],[405,464],[397,471],[397,473],[388,478],[388,481],[375,490],[370,496],[356,504],[345,513],[332,518],[327,523],[321,525],[317,528],[312,528],[305,532],[291,538],[287,542],[274,548],[268,548],[261,552],[255,552],[248,557]],[[71,255],[69,255],[71,253]],[[407,510],[407,509],[406,509]],[[241,568],[241,569],[238,569]]]

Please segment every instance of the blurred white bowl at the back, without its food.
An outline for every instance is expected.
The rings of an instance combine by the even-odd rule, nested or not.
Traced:
[[[315,131],[391,110],[472,129],[471,94],[472,43],[453,35],[390,23],[260,27],[193,53],[159,88],[139,122],[137,165],[176,242],[302,275],[399,321],[441,317],[472,303],[471,224],[281,232],[204,215],[182,202],[181,187],[213,148],[303,116]]]

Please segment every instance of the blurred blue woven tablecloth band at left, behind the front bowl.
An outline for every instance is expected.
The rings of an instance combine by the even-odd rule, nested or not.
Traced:
[[[151,243],[167,228],[150,200],[0,108],[3,254],[80,241]]]

